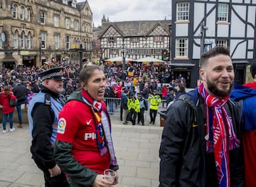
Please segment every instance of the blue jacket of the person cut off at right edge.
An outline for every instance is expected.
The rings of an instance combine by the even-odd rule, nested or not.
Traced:
[[[234,85],[234,90],[230,94],[230,98],[234,101],[243,100],[242,114],[245,119],[245,130],[256,129],[256,90],[242,85]]]

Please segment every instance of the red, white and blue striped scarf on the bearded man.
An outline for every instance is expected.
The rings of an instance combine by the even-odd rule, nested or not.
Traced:
[[[219,186],[230,186],[229,150],[239,147],[232,119],[225,105],[229,95],[217,98],[206,92],[203,83],[198,87],[206,107],[206,152],[213,153],[218,174]]]

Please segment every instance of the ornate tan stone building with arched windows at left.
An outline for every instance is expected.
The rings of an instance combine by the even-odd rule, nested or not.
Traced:
[[[0,1],[0,69],[90,60],[88,1]]]

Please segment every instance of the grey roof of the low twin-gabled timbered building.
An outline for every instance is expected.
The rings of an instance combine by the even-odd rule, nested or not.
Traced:
[[[108,28],[113,26],[121,35],[125,36],[148,36],[157,26],[169,33],[169,24],[171,20],[158,21],[121,21],[121,22],[107,22],[102,24],[102,33],[100,38],[104,35]]]

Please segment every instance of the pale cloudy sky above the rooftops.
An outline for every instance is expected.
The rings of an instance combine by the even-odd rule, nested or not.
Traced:
[[[78,2],[85,0],[78,0]],[[92,23],[101,26],[103,14],[114,21],[147,21],[171,19],[171,0],[87,0]]]

